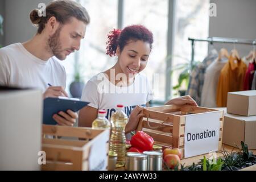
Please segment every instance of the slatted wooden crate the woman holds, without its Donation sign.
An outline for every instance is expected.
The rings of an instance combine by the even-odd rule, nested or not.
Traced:
[[[224,111],[196,106],[166,105],[148,107],[143,113],[136,131],[144,131],[160,146],[180,148],[184,158],[185,119],[188,114],[200,114],[212,111],[220,113],[220,139],[218,150],[221,150]]]

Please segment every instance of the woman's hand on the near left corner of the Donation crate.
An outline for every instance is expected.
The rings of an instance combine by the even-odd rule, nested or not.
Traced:
[[[143,117],[144,114],[141,111],[144,109],[142,106],[136,106],[130,114],[129,121],[125,126],[125,133],[130,133],[137,129],[139,118]]]

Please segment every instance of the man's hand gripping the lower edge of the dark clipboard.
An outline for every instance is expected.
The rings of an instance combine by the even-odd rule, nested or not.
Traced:
[[[60,126],[73,126],[76,122],[76,118],[78,118],[78,114],[74,113],[72,110],[67,110],[67,113],[60,111],[58,114],[54,114],[52,118]]]

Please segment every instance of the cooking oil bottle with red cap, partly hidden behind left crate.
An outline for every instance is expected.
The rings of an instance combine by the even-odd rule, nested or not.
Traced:
[[[98,117],[92,123],[92,129],[110,129],[110,122],[105,116],[106,111],[99,110]]]

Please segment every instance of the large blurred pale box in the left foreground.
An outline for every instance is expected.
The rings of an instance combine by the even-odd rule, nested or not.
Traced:
[[[40,90],[0,89],[0,170],[40,170],[42,118]]]

